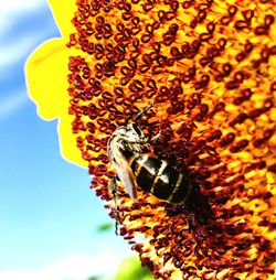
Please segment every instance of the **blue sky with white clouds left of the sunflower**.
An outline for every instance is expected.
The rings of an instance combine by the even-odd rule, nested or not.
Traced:
[[[110,219],[87,171],[62,159],[56,121],[40,119],[26,94],[25,60],[59,36],[46,0],[0,7],[0,279],[112,273],[130,250],[113,230],[97,231]]]

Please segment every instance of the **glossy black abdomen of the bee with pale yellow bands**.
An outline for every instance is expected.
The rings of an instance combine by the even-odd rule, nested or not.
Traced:
[[[192,189],[187,175],[163,160],[132,154],[129,164],[139,187],[170,203],[185,203]]]

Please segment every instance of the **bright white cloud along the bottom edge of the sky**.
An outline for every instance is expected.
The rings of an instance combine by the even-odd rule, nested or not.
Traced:
[[[0,279],[86,280],[91,276],[112,277],[120,261],[121,257],[112,251],[94,256],[73,256],[40,270],[0,270]]]

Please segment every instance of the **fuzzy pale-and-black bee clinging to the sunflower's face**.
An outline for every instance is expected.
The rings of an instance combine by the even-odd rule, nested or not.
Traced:
[[[137,125],[137,120],[152,108],[148,106],[134,121],[126,121],[110,136],[107,143],[108,158],[116,176],[112,180],[110,191],[116,203],[117,181],[127,189],[129,196],[137,200],[137,190],[151,193],[171,204],[185,204],[192,191],[190,177],[155,154],[149,153],[149,140]]]

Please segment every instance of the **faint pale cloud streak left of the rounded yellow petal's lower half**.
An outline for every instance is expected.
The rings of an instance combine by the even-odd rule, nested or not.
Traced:
[[[11,95],[6,100],[0,100],[0,121],[9,116],[11,112],[26,104],[29,100],[25,91],[18,91]],[[0,278],[1,279],[1,278]]]

